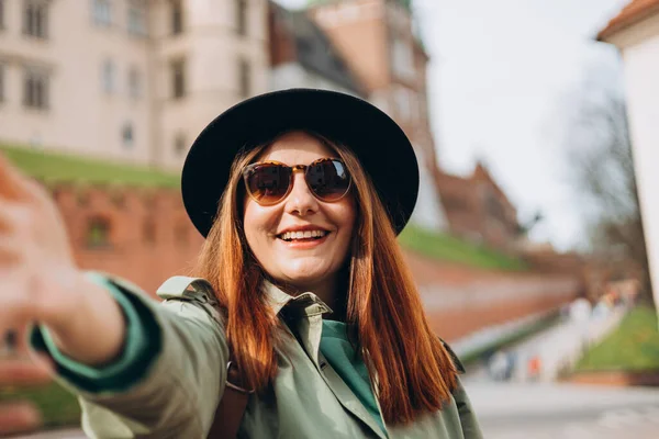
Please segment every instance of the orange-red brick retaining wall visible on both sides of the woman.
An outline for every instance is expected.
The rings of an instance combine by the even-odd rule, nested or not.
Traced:
[[[51,191],[80,267],[124,277],[152,294],[168,277],[189,273],[202,238],[189,222],[178,191],[74,184],[58,184]],[[94,222],[102,236],[90,241]],[[557,308],[580,288],[570,277],[480,270],[410,251],[405,258],[432,327],[447,340]]]

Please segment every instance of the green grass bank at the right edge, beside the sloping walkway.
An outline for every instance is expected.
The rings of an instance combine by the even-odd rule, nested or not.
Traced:
[[[659,370],[657,312],[638,306],[602,342],[585,352],[576,371]]]

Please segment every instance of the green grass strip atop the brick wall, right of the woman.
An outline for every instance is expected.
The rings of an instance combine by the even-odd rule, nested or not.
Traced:
[[[414,225],[405,227],[399,239],[403,247],[435,259],[483,269],[513,271],[526,269],[520,259]]]

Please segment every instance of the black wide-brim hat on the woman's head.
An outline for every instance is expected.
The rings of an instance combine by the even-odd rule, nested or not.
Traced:
[[[183,165],[181,191],[186,211],[204,237],[213,225],[236,154],[292,130],[316,132],[350,148],[370,176],[396,234],[405,227],[418,194],[418,165],[401,127],[359,98],[290,89],[230,108],[192,144]]]

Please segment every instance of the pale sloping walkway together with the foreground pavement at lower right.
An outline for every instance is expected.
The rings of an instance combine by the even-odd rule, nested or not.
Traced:
[[[582,341],[615,328],[624,309],[584,324],[565,320],[506,349],[517,359],[509,382],[493,382],[485,367],[463,378],[488,439],[659,438],[659,389],[601,387],[552,382],[573,362]],[[541,359],[539,382],[528,382],[527,360]]]

